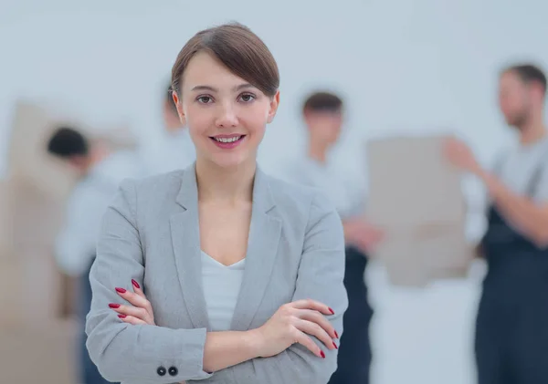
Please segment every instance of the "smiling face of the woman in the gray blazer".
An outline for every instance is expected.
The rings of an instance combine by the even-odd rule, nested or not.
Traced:
[[[216,58],[198,52],[184,70],[174,101],[195,143],[196,157],[222,168],[255,161],[279,93],[268,97]]]

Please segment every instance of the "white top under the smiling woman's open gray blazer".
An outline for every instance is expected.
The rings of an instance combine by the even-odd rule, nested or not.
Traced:
[[[202,251],[202,285],[213,331],[230,329],[245,268],[246,259],[223,265]]]

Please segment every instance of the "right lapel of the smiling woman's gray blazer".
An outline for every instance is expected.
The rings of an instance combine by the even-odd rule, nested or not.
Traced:
[[[274,206],[268,177],[258,169],[253,185],[246,269],[232,317],[233,330],[248,330],[269,286],[281,234],[281,222],[269,214]]]

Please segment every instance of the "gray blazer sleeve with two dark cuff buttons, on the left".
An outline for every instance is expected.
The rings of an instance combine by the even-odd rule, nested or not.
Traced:
[[[168,384],[207,379],[203,370],[205,328],[169,329],[121,322],[109,303],[121,303],[115,287],[143,280],[144,258],[136,223],[134,182],[121,183],[104,214],[97,258],[90,271],[92,300],[86,322],[87,348],[109,381]]]

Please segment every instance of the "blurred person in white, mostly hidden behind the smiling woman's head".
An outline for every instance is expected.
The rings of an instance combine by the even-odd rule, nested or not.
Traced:
[[[195,146],[177,115],[171,95],[171,86],[168,86],[162,99],[163,130],[160,147],[148,159],[150,174],[184,169],[196,158]]]

